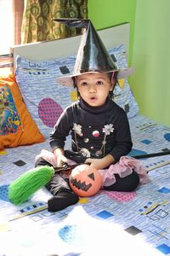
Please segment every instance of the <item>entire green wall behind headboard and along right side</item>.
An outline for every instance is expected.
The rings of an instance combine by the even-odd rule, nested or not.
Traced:
[[[170,125],[169,10],[170,0],[88,0],[88,17],[96,29],[130,22],[133,94],[141,114],[165,125]]]

